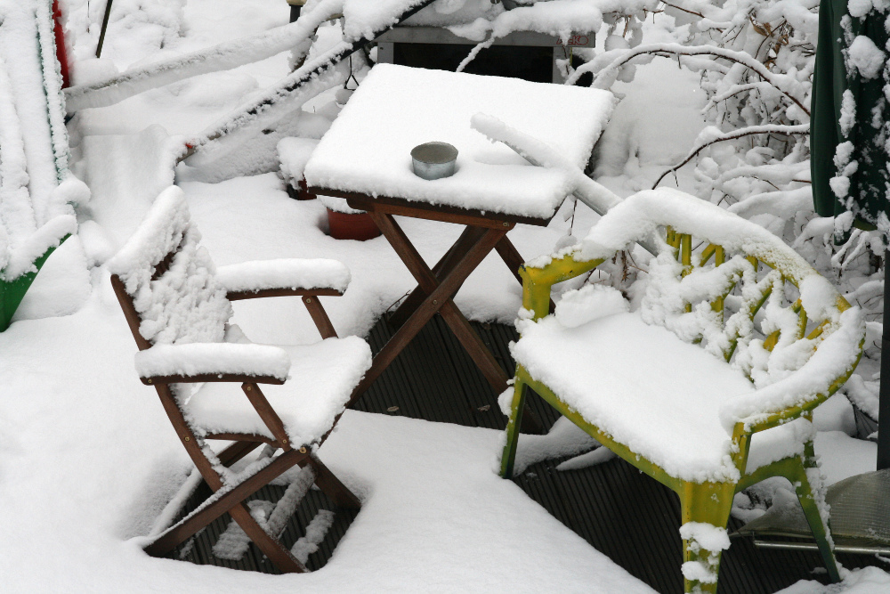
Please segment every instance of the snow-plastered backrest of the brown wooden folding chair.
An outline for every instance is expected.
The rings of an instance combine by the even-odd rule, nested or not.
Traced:
[[[171,186],[109,260],[116,290],[123,289],[132,301],[127,321],[141,349],[223,341],[231,303],[199,241],[182,190]]]

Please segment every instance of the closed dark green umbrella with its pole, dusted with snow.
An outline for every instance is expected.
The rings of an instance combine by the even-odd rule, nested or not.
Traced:
[[[820,216],[852,212],[863,229],[890,228],[890,106],[885,86],[887,7],[880,0],[822,0],[813,72],[810,167]],[[890,87],[888,87],[890,89]],[[885,254],[884,319],[890,321]],[[890,332],[884,331],[878,469],[890,468]]]

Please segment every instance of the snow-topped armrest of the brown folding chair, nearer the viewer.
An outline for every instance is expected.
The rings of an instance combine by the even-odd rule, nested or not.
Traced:
[[[155,345],[135,356],[136,372],[146,385],[205,381],[283,384],[290,356],[277,346],[190,343]]]

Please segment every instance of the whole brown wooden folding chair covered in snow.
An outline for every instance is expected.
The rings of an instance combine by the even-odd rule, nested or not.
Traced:
[[[245,500],[299,465],[303,479],[309,473],[337,506],[360,508],[359,499],[315,454],[371,364],[365,341],[336,338],[318,299],[342,295],[349,271],[332,260],[287,259],[235,264],[217,273],[199,239],[182,191],[170,187],[108,264],[139,347],[136,369],[142,383],[155,387],[176,435],[214,491],[159,533],[146,551],[166,556],[229,512],[279,570],[304,572],[304,562],[279,541],[284,525],[257,521]],[[303,297],[324,340],[308,346],[255,345],[228,323],[231,300],[291,295]],[[284,386],[288,376],[295,381]],[[269,385],[263,388],[268,394],[260,384]],[[210,440],[232,443],[216,453]],[[232,468],[263,443],[257,460]],[[302,496],[311,482],[296,482],[306,483]]]

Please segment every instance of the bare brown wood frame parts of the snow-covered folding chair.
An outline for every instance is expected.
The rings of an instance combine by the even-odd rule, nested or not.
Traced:
[[[176,250],[178,251],[178,249]],[[152,279],[158,279],[173,262],[176,251],[168,254],[155,267]],[[150,341],[146,340],[139,333],[140,316],[134,306],[133,298],[126,292],[124,282],[113,274],[111,275],[111,286],[114,288],[117,300],[120,302],[124,311],[127,324],[136,341],[136,346],[140,350],[150,348]],[[265,289],[256,292],[231,292],[227,294],[230,300],[249,299],[255,297],[285,297],[300,296],[303,297],[303,304],[312,315],[312,320],[319,329],[322,338],[336,338],[336,331],[321,305],[319,295],[342,295],[343,293],[336,289]],[[241,389],[247,397],[248,401],[253,405],[255,411],[263,420],[266,427],[269,428],[272,438],[265,435],[241,434],[241,433],[219,433],[198,435],[186,422],[185,415],[176,400],[176,397],[170,387],[172,383],[203,383],[209,381],[236,382],[241,384]],[[284,547],[277,538],[266,533],[263,527],[259,525],[254,517],[250,515],[245,500],[269,484],[277,476],[286,472],[295,465],[301,467],[310,466],[314,474],[314,482],[328,497],[333,500],[336,505],[349,508],[360,509],[361,503],[358,497],[352,493],[348,487],[340,482],[334,473],[332,473],[324,463],[312,452],[313,446],[320,446],[321,443],[330,435],[322,435],[317,443],[303,443],[295,445],[288,443],[287,433],[284,424],[281,422],[277,412],[272,409],[271,404],[263,395],[258,384],[283,384],[284,382],[278,378],[252,377],[236,374],[217,375],[195,375],[195,376],[157,376],[151,378],[142,378],[142,383],[153,386],[158,392],[161,404],[166,411],[167,417],[170,419],[174,427],[176,435],[185,447],[189,457],[195,463],[196,468],[204,477],[206,484],[214,492],[204,504],[198,506],[194,512],[187,517],[182,518],[178,523],[166,529],[165,532],[158,535],[155,541],[146,546],[145,551],[152,557],[165,557],[182,542],[188,540],[199,530],[213,522],[217,517],[221,517],[224,513],[229,512],[232,519],[247,533],[251,541],[263,551],[266,557],[279,568],[283,573],[307,571],[306,566],[294,557],[291,552]],[[335,420],[339,420],[339,416]],[[260,469],[254,475],[247,477],[234,486],[226,486],[224,484],[223,475],[214,468],[214,462],[209,460],[204,453],[206,440],[226,440],[232,441],[223,452],[216,454],[217,460],[223,463],[223,466],[230,467],[235,462],[241,460],[257,447],[266,443],[271,447],[280,449],[282,453],[271,461],[267,466]]]

